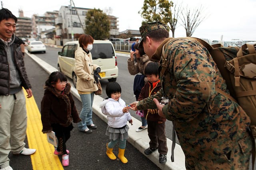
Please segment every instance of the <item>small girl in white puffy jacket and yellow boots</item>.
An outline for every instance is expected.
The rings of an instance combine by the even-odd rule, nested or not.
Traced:
[[[106,86],[106,94],[108,98],[100,104],[100,108],[104,115],[108,118],[108,127],[106,135],[111,140],[106,144],[106,154],[112,160],[116,159],[113,153],[114,146],[119,142],[118,158],[122,163],[126,164],[128,160],[124,157],[126,147],[126,139],[128,136],[129,126],[127,121],[132,124],[132,116],[129,113],[129,107],[126,106],[124,100],[120,98],[121,87],[117,82],[110,82]]]

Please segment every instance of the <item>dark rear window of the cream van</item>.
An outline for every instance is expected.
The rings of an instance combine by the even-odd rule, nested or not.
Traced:
[[[92,53],[92,59],[110,59],[114,56],[112,44],[108,43],[93,44],[92,51],[90,52]]]

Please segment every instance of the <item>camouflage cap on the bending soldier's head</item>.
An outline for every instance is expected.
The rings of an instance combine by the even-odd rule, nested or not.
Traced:
[[[146,37],[146,35],[148,33],[150,33],[151,31],[153,31],[155,29],[166,29],[167,30],[167,25],[160,21],[144,23],[140,27],[140,35],[141,35],[142,39],[140,41],[138,48],[143,49],[142,44],[143,44],[144,37]]]

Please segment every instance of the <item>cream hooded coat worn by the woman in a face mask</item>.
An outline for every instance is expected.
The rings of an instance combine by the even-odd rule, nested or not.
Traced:
[[[92,54],[87,54],[82,47],[75,52],[75,68],[77,76],[76,89],[82,92],[95,92],[98,90],[93,76],[94,70],[99,66],[92,63]]]

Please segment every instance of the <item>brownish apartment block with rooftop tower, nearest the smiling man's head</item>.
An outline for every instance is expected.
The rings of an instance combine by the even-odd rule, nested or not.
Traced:
[[[28,38],[32,31],[31,18],[24,17],[23,11],[19,10],[17,19],[15,35],[20,38]]]

